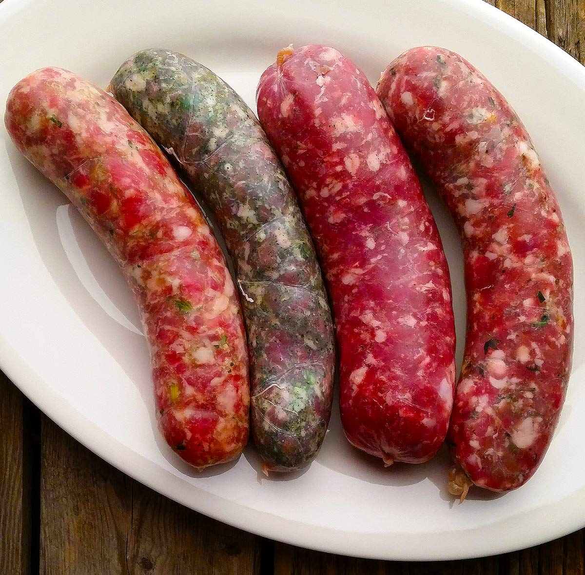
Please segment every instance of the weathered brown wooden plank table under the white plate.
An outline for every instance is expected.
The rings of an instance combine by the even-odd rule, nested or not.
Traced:
[[[585,63],[585,0],[489,1]],[[584,557],[585,530],[497,557],[433,563],[351,559],[263,539],[109,466],[0,374],[0,575],[577,575]]]

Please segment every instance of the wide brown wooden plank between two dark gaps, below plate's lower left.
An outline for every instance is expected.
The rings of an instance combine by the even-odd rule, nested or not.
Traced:
[[[259,538],[190,511],[42,422],[40,573],[255,575]]]

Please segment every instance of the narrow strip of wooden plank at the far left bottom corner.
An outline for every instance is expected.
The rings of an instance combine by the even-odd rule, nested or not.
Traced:
[[[0,372],[0,575],[24,575],[30,570],[25,401]]]

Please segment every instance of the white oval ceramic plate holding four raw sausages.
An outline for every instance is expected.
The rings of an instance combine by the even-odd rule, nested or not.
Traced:
[[[448,458],[384,469],[343,438],[339,414],[304,473],[259,474],[253,446],[236,464],[196,473],[154,426],[146,343],[121,272],[66,198],[0,128],[0,365],[47,415],[129,475],[211,517],[309,548],[383,559],[490,555],[585,525],[585,68],[480,0],[147,2],[5,0],[0,105],[21,77],[61,66],[105,86],[146,47],[180,50],[254,107],[260,73],[289,42],[331,44],[375,82],[403,50],[461,53],[528,126],[565,215],[575,257],[574,369],[548,455],[520,490],[474,490],[454,505]],[[464,333],[459,242],[429,194]],[[461,345],[459,346],[460,352]],[[459,354],[460,359],[460,354]]]

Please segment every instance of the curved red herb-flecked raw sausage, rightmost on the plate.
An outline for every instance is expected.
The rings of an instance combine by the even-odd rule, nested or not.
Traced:
[[[517,488],[545,454],[569,380],[573,263],[559,205],[514,110],[458,54],[408,50],[384,71],[378,95],[462,237],[456,458],[478,486]],[[464,496],[464,483],[452,474],[453,494]]]

